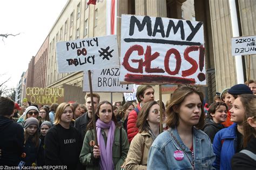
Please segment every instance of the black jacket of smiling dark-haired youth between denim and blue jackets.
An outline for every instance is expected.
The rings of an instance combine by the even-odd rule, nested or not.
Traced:
[[[205,126],[203,128],[203,131],[208,135],[208,137],[211,139],[211,142],[213,142],[213,139],[215,137],[215,134],[219,132],[219,130],[223,129],[224,126],[222,124],[215,123],[212,119],[207,118],[205,120]]]

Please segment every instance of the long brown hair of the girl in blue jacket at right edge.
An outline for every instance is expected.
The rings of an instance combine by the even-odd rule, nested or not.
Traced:
[[[248,124],[247,119],[250,117],[254,117],[254,120],[256,119],[256,96],[253,94],[241,94],[239,96],[239,99],[242,103],[242,105],[245,108],[245,116],[244,116],[244,147],[247,146],[248,141],[250,141],[251,138],[256,137],[256,131],[255,128],[250,126]]]

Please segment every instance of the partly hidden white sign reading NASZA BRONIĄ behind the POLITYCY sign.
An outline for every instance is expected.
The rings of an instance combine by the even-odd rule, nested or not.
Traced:
[[[133,85],[120,84],[119,75],[119,68],[92,70],[93,92],[132,92]],[[83,91],[90,91],[87,72],[84,72]]]

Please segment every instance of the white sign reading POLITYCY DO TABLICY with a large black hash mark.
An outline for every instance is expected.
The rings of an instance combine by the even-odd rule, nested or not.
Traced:
[[[59,42],[57,62],[59,73],[119,67],[117,36]]]

